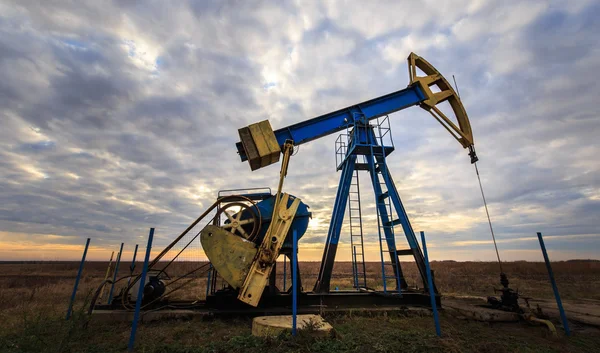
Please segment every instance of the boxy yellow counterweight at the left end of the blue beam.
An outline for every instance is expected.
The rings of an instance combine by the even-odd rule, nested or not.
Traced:
[[[268,120],[248,125],[238,132],[252,170],[279,162],[281,148]]]

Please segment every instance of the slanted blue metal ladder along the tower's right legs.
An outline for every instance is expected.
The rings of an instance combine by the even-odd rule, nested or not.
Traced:
[[[377,146],[381,148],[381,154],[375,153],[374,148],[371,147],[371,161],[375,167],[375,175],[373,176],[376,180],[374,182],[378,183],[380,186],[381,193],[376,195],[377,205],[375,209],[377,210],[377,227],[378,227],[378,235],[379,235],[379,251],[381,255],[381,280],[383,282],[383,292],[387,293],[387,281],[393,279],[396,282],[396,288],[398,289],[398,294],[401,295],[401,271],[398,266],[399,258],[398,252],[396,248],[389,249],[387,245],[387,241],[394,239],[395,242],[395,234],[394,234],[394,226],[399,223],[398,220],[394,220],[393,218],[393,210],[392,204],[390,202],[389,193],[387,189],[387,184],[385,180],[388,178],[387,175],[387,166],[385,163],[385,151],[383,146]],[[379,158],[377,158],[379,157]],[[383,206],[387,213],[387,220],[383,219],[383,215],[380,212],[380,207]],[[386,230],[389,231],[389,235],[387,235]],[[386,250],[387,249],[387,250]],[[395,259],[395,262],[392,262],[391,259],[389,262],[386,262],[385,254],[388,254],[391,258]]]

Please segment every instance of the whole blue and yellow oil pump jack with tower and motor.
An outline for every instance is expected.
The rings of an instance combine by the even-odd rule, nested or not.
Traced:
[[[269,121],[239,129],[240,142],[236,144],[236,148],[241,160],[247,161],[253,171],[279,162],[283,155],[277,192],[274,195],[270,191],[220,195],[213,205],[150,263],[150,269],[159,266],[161,258],[175,244],[216,210],[215,216],[198,233],[213,268],[212,288],[203,303],[207,307],[251,309],[289,306],[289,294],[292,290],[301,293],[300,306],[429,305],[423,253],[388,167],[387,157],[394,151],[388,115],[419,106],[439,121],[463,148],[468,149],[471,163],[477,161],[477,155],[467,113],[448,80],[414,53],[408,56],[408,72],[409,84],[402,90],[277,130],[271,128]],[[449,103],[457,124],[438,106],[443,102]],[[297,232],[300,238],[306,231],[311,216],[308,206],[299,198],[283,192],[292,152],[295,146],[339,132],[345,132],[336,141],[340,181],[317,281],[312,291],[302,291],[301,284],[297,288],[280,291],[275,288],[274,280],[277,259],[284,255],[291,260],[292,232]],[[374,191],[383,291],[367,288],[360,193],[353,190],[353,187],[358,188],[359,171],[368,173]],[[355,290],[330,291],[332,270],[347,208]],[[396,246],[398,228],[401,228],[401,233],[406,238],[406,249],[398,249]],[[414,258],[423,282],[421,290],[408,288],[399,259],[401,256]],[[159,275],[161,272],[164,273],[164,269],[158,272]],[[226,288],[215,289],[217,274],[227,283]],[[155,276],[154,283],[160,281],[162,280]],[[128,300],[128,293],[135,282],[131,281],[131,285],[123,292],[123,303]],[[146,286],[151,283],[152,277]],[[169,283],[165,280],[163,287],[168,286]],[[152,291],[149,290],[148,293]],[[437,289],[435,293],[437,294]],[[163,288],[158,296],[149,294],[146,297],[144,294],[143,300],[156,301],[168,297],[167,294],[168,291],[165,293]],[[437,303],[439,304],[439,296]]]

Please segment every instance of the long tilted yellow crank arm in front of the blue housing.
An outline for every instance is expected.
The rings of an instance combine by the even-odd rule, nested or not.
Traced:
[[[287,207],[290,200],[293,200],[292,204],[290,207]],[[267,233],[252,263],[252,267],[248,271],[248,275],[240,289],[239,300],[252,306],[258,305],[269,280],[273,264],[279,256],[279,250],[290,230],[299,205],[300,199],[286,193],[281,195],[281,199],[277,202],[277,206],[273,210],[269,229],[267,229]]]

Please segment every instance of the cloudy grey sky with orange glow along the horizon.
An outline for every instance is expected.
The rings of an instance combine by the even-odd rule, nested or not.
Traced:
[[[594,1],[1,0],[0,260],[76,259],[87,237],[106,259],[149,227],[164,247],[219,189],[276,187],[278,166],[239,161],[238,128],[402,89],[411,51],[456,76],[501,256],[541,260],[541,231],[554,260],[599,259],[598,16]],[[388,164],[431,257],[493,260],[466,150],[418,107],[390,118]],[[301,260],[321,257],[336,137],[291,161],[285,190],[313,212]]]

